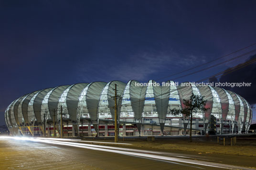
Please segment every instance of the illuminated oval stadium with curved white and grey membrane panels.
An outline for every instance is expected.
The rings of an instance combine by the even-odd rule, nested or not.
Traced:
[[[189,133],[189,118],[172,115],[171,109],[184,107],[192,94],[204,96],[207,111],[194,113],[192,134],[247,133],[252,121],[249,103],[235,92],[211,86],[138,87],[136,80],[78,83],[34,91],[11,102],[5,121],[12,135],[114,136],[117,84],[119,136],[183,135]],[[62,113],[62,114],[61,114]]]

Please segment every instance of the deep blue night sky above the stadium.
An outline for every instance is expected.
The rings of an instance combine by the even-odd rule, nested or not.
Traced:
[[[207,78],[255,53],[177,79],[256,45],[161,79],[256,43],[255,30],[255,0],[0,0],[0,125],[11,101],[35,90],[92,81]],[[254,68],[243,74],[254,75]],[[230,77],[221,80],[243,81]],[[243,91],[245,99],[256,95]]]

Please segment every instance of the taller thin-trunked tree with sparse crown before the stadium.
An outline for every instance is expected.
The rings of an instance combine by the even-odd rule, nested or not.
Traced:
[[[206,111],[209,108],[205,108],[205,104],[207,100],[203,100],[203,96],[194,95],[190,97],[190,100],[183,100],[184,101],[184,108],[183,109],[171,109],[171,114],[178,115],[178,114],[184,114],[185,117],[190,117],[190,133],[189,133],[189,139],[190,142],[192,142],[192,120],[193,120],[193,113]]]

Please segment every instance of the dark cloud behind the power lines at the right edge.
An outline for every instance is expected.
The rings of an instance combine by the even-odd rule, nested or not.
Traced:
[[[252,61],[256,59],[256,55],[250,57],[247,61]],[[245,62],[247,62],[245,61]],[[237,66],[243,65],[239,64]],[[235,66],[236,67],[236,66]],[[256,104],[256,63],[247,65],[239,70],[235,70],[235,67],[229,68],[227,70],[234,70],[231,73],[222,75],[219,82],[248,82],[252,83],[250,87],[224,87],[226,90],[234,91],[235,93],[244,97],[251,105]]]

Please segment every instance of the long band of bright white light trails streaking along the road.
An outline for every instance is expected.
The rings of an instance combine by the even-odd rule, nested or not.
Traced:
[[[65,142],[65,141],[56,141],[56,140],[41,140],[40,138],[24,138],[24,137],[0,137],[0,138],[15,139],[15,140],[29,140],[29,141],[35,141],[35,142],[48,143],[48,144],[72,146],[72,147],[78,147],[78,148],[85,148],[85,149],[89,149],[89,150],[107,151],[107,152],[118,153],[118,154],[123,154],[123,155],[136,156],[136,157],[141,157],[141,158],[146,158],[146,159],[153,159],[153,160],[160,160],[160,161],[167,160],[167,161],[171,161],[171,162],[175,161],[175,162],[182,162],[182,163],[188,163],[188,164],[194,164],[194,165],[202,165],[202,166],[208,166],[208,167],[214,167],[214,168],[235,169],[235,170],[237,170],[237,169],[239,169],[239,170],[254,170],[253,168],[225,165],[225,164],[212,163],[212,162],[206,162],[206,161],[201,161],[201,160],[188,160],[188,159],[184,159],[184,158],[174,158],[174,157],[169,157],[169,156],[149,154],[148,150],[139,150],[140,152],[135,152],[138,150],[128,149],[128,148],[90,145],[90,144],[74,143],[74,142]],[[145,153],[145,152],[148,152],[148,153]],[[150,152],[151,153],[160,153],[160,152],[153,152],[153,151],[150,151]],[[184,165],[184,164],[182,164],[182,165]],[[184,165],[184,166],[188,166],[188,165]],[[200,168],[200,167],[197,167],[197,168]]]

